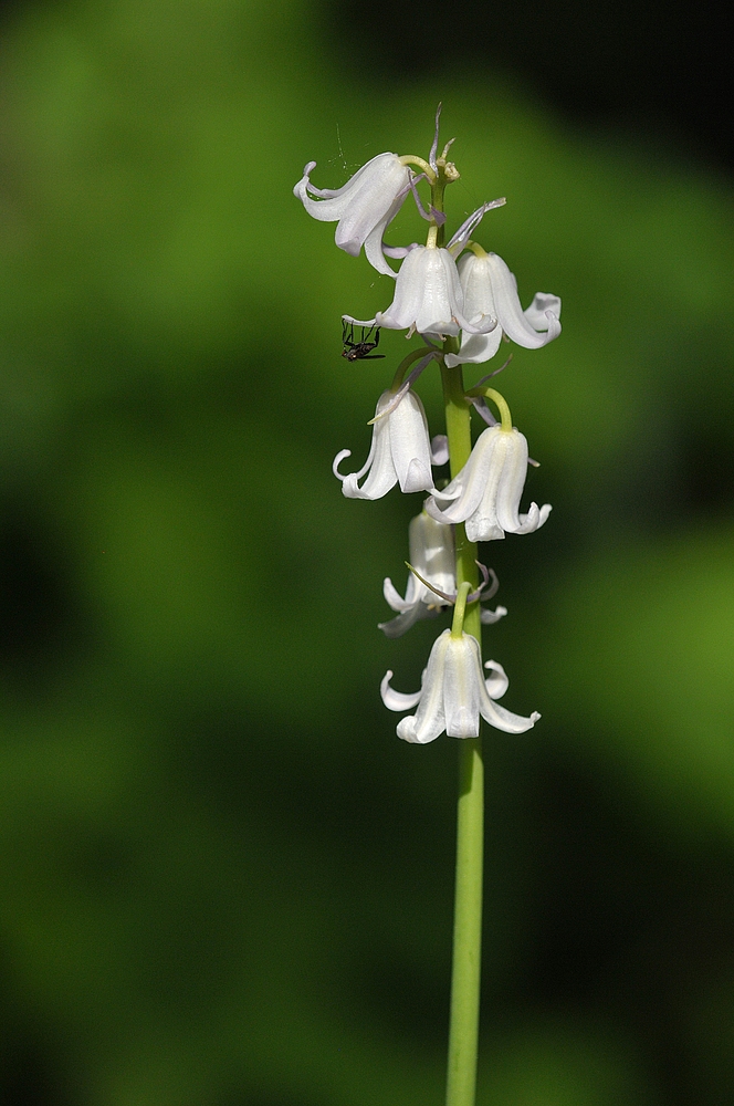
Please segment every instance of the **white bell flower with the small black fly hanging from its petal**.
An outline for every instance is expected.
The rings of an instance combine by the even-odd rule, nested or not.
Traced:
[[[496,326],[494,316],[480,320],[479,326],[466,320],[457,262],[448,250],[434,246],[410,250],[400,265],[392,303],[387,311],[378,311],[371,322],[436,337]]]

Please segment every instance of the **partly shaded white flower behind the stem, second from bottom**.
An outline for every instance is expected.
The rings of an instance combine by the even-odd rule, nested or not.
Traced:
[[[408,542],[410,564],[418,575],[444,595],[454,595],[457,575],[452,528],[437,522],[421,511],[410,521]],[[382,592],[389,606],[399,612],[397,618],[379,624],[379,628],[387,637],[400,637],[413,623],[421,618],[431,618],[448,606],[447,599],[427,587],[412,572],[408,574],[405,599],[398,594],[389,576],[385,578]],[[492,594],[492,591],[487,593],[487,597]],[[496,611],[483,609],[481,618],[483,623],[489,624],[497,622],[506,614],[505,607],[497,607]]]

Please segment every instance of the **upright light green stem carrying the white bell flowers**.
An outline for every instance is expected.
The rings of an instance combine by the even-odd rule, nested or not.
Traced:
[[[454,352],[448,338],[444,352]],[[464,398],[461,366],[441,365],[451,476],[471,453],[470,408]],[[479,584],[476,545],[466,540],[463,525],[455,528],[457,587]],[[479,603],[472,603],[464,630],[481,646]],[[479,998],[482,956],[482,864],[484,843],[484,764],[482,738],[459,741],[459,807],[457,821],[457,884],[453,919],[453,963],[447,1106],[474,1106],[479,1044]]]

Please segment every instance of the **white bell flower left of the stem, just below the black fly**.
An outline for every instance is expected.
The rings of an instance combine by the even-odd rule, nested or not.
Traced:
[[[408,390],[389,414],[395,394],[384,392],[377,400],[369,457],[358,472],[342,476],[339,465],[352,456],[343,449],[334,458],[334,476],[347,499],[381,499],[396,483],[400,491],[433,491],[428,421],[419,396]],[[361,488],[358,481],[369,473]]]

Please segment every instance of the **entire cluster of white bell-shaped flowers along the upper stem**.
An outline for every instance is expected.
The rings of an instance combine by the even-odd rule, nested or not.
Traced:
[[[386,707],[396,711],[417,708],[415,714],[401,719],[397,732],[418,744],[433,741],[444,731],[450,737],[475,738],[480,718],[508,733],[522,733],[539,718],[536,712],[528,718],[513,714],[497,705],[507,689],[501,665],[487,660],[484,668],[491,675],[483,675],[479,625],[496,622],[506,611],[479,607],[496,589],[496,577],[485,591],[490,573],[480,565],[484,583],[479,585],[473,543],[507,533],[532,533],[545,523],[550,507],[531,503],[527,512],[521,513],[529,463],[527,442],[513,427],[499,393],[481,383],[464,390],[462,366],[490,361],[503,340],[537,349],[560,333],[560,300],[538,292],[523,310],[517,283],[505,262],[473,240],[486,212],[504,205],[504,199],[483,204],[444,241],[443,194],[459,177],[448,160],[450,146],[438,156],[437,116],[427,161],[412,155],[379,154],[336,189],[312,185],[315,163],[310,161],[294,188],[310,215],[336,222],[335,240],[340,249],[357,257],[364,247],[374,269],[396,282],[392,302],[373,319],[343,316],[349,333],[361,326],[363,334],[374,336],[363,343],[365,351],[375,347],[379,327],[406,331],[408,337],[418,334],[423,342],[403,358],[391,387],[377,401],[371,447],[363,468],[346,474],[339,471],[350,456],[348,449],[337,453],[333,466],[349,499],[380,499],[396,483],[401,492],[427,493],[423,510],[409,528],[410,575],[405,598],[386,578],[385,598],[397,616],[380,624],[380,629],[395,638],[419,619],[454,608],[451,629],[445,629],[431,649],[420,691],[403,695],[394,690],[390,671],[382,680]],[[418,191],[421,184],[431,189],[428,208]],[[429,225],[426,244],[390,247],[385,242],[387,228],[410,195]],[[388,259],[400,262],[397,272]],[[352,343],[349,358],[367,355],[360,348],[359,343]],[[426,411],[413,385],[431,363],[441,369],[447,399],[452,397],[455,406],[459,395],[458,406],[465,413],[466,425],[472,407],[489,422],[471,452],[465,449],[469,456],[461,456],[464,447],[455,429],[453,442],[450,427],[448,439],[430,439]],[[496,405],[500,421],[486,406],[487,399]],[[433,469],[448,460],[453,479],[437,479]],[[464,618],[470,617],[474,634],[464,629]]]

